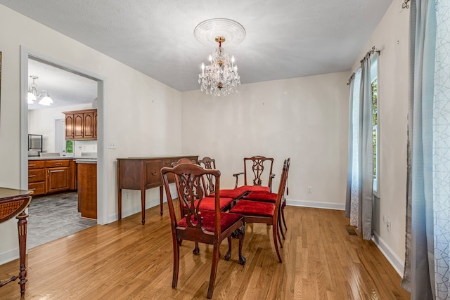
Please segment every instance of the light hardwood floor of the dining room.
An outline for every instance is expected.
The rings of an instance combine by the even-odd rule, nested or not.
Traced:
[[[371,241],[349,235],[344,211],[286,207],[288,232],[279,263],[271,228],[247,224],[240,266],[238,240],[230,261],[220,259],[213,299],[410,299],[400,276]],[[172,289],[172,240],[167,207],[94,226],[34,249],[27,256],[22,299],[206,299],[212,247],[180,249]],[[57,226],[57,224],[55,224]],[[227,249],[226,240],[221,253]],[[18,261],[0,266],[0,279],[18,274]],[[0,299],[21,299],[16,282]]]

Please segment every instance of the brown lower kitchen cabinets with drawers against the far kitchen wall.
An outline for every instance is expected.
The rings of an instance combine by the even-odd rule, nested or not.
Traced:
[[[33,196],[75,190],[73,159],[42,159],[28,161],[28,189]]]

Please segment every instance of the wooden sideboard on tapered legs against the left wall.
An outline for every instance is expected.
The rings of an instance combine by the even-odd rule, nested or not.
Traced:
[[[117,201],[119,204],[119,220],[122,219],[122,189],[141,190],[142,224],[146,223],[146,190],[160,188],[160,214],[162,214],[162,181],[161,168],[170,167],[172,162],[180,158],[188,158],[195,163],[198,156],[168,157],[129,157],[117,158]],[[174,179],[170,182],[173,182]]]

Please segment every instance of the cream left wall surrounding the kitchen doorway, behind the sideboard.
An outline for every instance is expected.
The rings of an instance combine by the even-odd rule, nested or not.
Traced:
[[[105,126],[98,138],[117,142],[103,157],[108,221],[117,219],[117,157],[181,154],[179,91],[1,5],[0,45],[0,186],[21,188],[20,107],[26,99],[20,99],[20,46],[105,79]],[[148,191],[148,199],[158,200],[158,189]],[[124,210],[140,210],[139,194],[131,193]],[[15,220],[0,224],[0,263],[18,257],[16,228]]]

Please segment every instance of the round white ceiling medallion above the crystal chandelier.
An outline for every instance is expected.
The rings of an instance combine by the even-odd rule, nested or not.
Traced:
[[[208,47],[216,47],[216,37],[225,37],[226,46],[233,47],[245,39],[245,29],[238,22],[217,18],[201,22],[194,30],[195,38]]]

